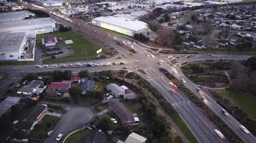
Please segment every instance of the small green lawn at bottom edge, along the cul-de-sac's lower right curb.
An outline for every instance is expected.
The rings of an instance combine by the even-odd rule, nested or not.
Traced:
[[[65,143],[77,143],[81,137],[87,137],[91,133],[90,129],[82,129],[78,132],[71,134],[66,140]]]

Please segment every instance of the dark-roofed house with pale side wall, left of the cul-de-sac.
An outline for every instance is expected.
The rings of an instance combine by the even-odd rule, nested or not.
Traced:
[[[14,124],[14,130],[22,131],[29,134],[34,129],[36,124],[39,124],[47,111],[46,104],[37,104],[31,112],[25,115],[17,124]]]

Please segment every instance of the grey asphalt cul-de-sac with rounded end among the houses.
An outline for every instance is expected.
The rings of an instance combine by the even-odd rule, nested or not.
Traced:
[[[68,134],[73,129],[86,124],[93,117],[90,108],[86,107],[66,107],[66,114],[61,117],[58,124],[53,129],[52,135],[45,138],[45,143],[54,142],[58,134]]]

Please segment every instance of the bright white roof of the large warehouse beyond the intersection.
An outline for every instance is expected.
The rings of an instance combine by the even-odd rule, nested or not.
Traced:
[[[97,17],[93,20],[96,21],[101,21],[107,24],[112,24],[116,26],[120,26],[125,29],[131,29],[134,31],[140,30],[140,29],[145,29],[147,28],[147,24],[143,21],[137,21],[137,20],[132,20],[132,19],[127,19],[124,17],[114,17],[114,16],[101,16]]]

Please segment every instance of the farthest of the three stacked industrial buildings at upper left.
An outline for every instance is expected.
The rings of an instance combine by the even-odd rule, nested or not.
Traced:
[[[12,11],[0,13],[0,22],[20,21],[27,18],[35,17],[35,14],[30,11]]]

